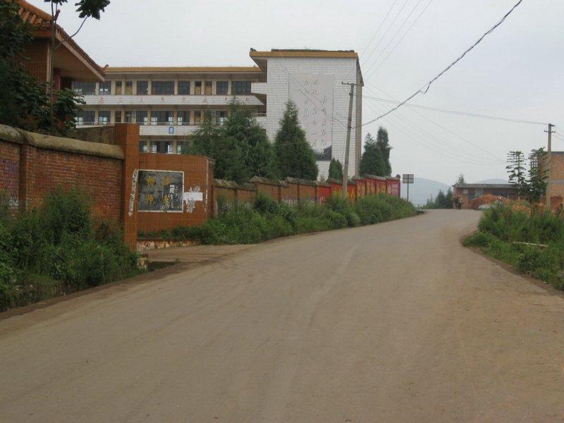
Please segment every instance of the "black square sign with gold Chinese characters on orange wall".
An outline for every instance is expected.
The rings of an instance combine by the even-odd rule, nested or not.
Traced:
[[[184,172],[140,170],[140,212],[182,212]]]

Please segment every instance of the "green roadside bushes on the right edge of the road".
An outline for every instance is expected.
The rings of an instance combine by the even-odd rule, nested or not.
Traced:
[[[515,204],[498,204],[484,212],[478,230],[465,240],[465,245],[478,247],[522,273],[564,289],[561,214],[544,210],[527,212]]]

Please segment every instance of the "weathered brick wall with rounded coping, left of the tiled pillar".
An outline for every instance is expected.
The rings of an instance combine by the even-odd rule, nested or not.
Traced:
[[[123,151],[116,145],[28,133],[0,125],[0,190],[14,212],[39,206],[57,187],[80,187],[94,214],[121,217]]]

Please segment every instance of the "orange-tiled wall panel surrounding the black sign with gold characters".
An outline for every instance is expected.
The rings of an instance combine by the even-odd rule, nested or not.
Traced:
[[[137,225],[139,231],[159,231],[174,226],[200,225],[212,216],[214,199],[212,186],[214,183],[213,168],[207,157],[188,156],[184,154],[140,154],[139,169],[160,171],[183,171],[184,192],[199,187],[203,192],[203,201],[195,203],[195,209],[188,212],[184,206],[182,213],[172,212],[139,212]]]

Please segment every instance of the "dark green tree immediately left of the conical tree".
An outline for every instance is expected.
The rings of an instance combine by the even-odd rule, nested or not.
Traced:
[[[250,109],[231,105],[231,113],[223,123],[223,132],[240,148],[243,166],[249,176],[273,177],[274,151],[266,131],[257,123]]]

